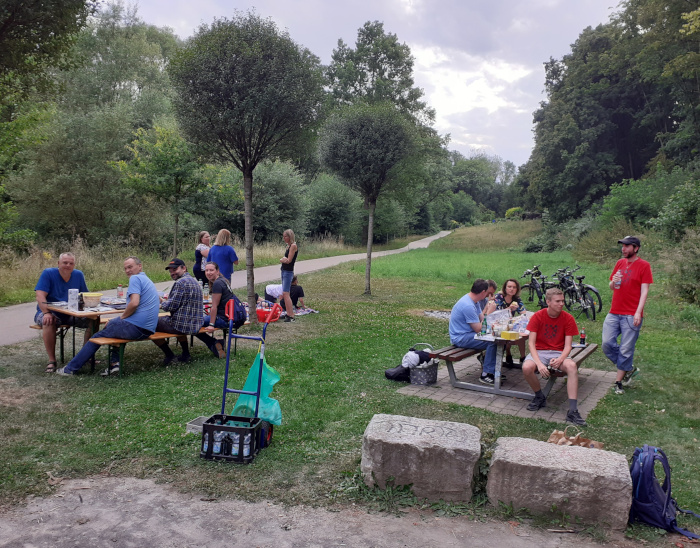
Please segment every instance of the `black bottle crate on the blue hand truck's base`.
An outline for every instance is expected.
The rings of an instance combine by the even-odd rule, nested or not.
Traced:
[[[229,421],[238,425],[229,426],[226,424]],[[199,456],[208,460],[248,464],[253,462],[260,449],[267,444],[269,428],[270,425],[259,418],[212,415],[202,424]],[[223,437],[223,440],[215,440],[215,435]],[[217,449],[216,444],[220,444],[217,453],[214,452],[214,449]]]

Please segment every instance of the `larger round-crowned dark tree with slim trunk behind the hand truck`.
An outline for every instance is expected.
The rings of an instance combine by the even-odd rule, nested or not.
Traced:
[[[322,98],[319,60],[271,20],[202,25],[173,59],[178,120],[189,139],[243,174],[248,302],[254,305],[253,171],[288,152]]]

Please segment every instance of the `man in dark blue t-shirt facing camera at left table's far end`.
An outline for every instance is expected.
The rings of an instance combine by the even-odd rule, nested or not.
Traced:
[[[58,256],[58,268],[44,269],[34,288],[37,303],[34,323],[41,326],[41,336],[49,356],[46,373],[56,371],[56,331],[58,331],[58,327],[72,325],[89,328],[90,326],[90,320],[59,312],[50,312],[46,307],[47,303],[67,301],[69,289],[77,289],[80,292],[88,291],[85,276],[80,270],[75,270],[75,255],[61,253]],[[90,331],[88,329],[85,331],[85,340],[89,337]]]

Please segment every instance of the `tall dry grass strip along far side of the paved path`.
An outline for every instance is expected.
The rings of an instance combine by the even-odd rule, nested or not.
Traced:
[[[418,240],[422,236],[408,236],[393,240],[388,244],[374,246],[376,251],[385,249],[399,249],[409,242]],[[364,253],[364,246],[346,246],[342,242],[334,240],[310,240],[299,243],[299,260],[319,259],[335,255],[350,255]],[[236,270],[246,267],[245,248],[238,242],[234,242],[239,263]],[[6,256],[0,261],[0,306],[31,302],[34,300],[34,287],[39,279],[41,271],[45,268],[55,267],[58,256],[65,249],[35,249],[27,256]],[[101,246],[88,248],[81,240],[77,240],[72,251],[76,256],[76,268],[85,274],[88,287],[92,291],[114,289],[118,284],[126,286],[128,278],[124,274],[124,259],[135,255],[141,259],[144,271],[154,282],[169,281],[170,276],[164,270],[165,265],[171,259],[170,255],[162,256],[157,253],[143,252],[135,246]],[[253,248],[255,266],[269,266],[279,264],[279,259],[284,255],[284,244],[264,243],[256,244]],[[179,254],[191,267],[194,264],[194,246]]]

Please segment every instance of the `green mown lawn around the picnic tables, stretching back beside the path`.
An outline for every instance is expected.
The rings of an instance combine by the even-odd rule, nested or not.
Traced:
[[[268,363],[282,378],[272,395],[281,403],[284,422],[275,430],[273,444],[250,466],[205,462],[197,456],[200,440],[184,433],[187,421],[215,413],[221,405],[224,362],[213,359],[202,345],[195,346],[193,363],[167,369],[159,365],[162,354],[154,346],[130,345],[128,374],[121,380],[46,376],[38,339],[3,348],[0,461],[5,465],[0,500],[50,492],[50,472],[55,477],[152,477],[217,497],[342,502],[357,491],[352,476],[363,431],[375,413],[473,424],[487,443],[498,436],[547,439],[555,426],[550,422],[402,396],[395,383],[384,379],[384,369],[398,364],[413,343],[449,342],[445,321],[416,311],[451,308],[475,277],[501,283],[535,263],[545,273],[573,264],[568,252],[509,250],[514,238],[507,231],[524,234],[528,226],[506,223],[486,232],[482,227],[460,230],[429,249],[377,259],[371,297],[362,294],[361,262],[306,275],[307,302],[320,313],[269,327]],[[497,245],[495,233],[500,231],[507,237]],[[483,245],[489,234],[494,241]],[[464,251],[460,239],[472,252]],[[583,272],[609,307],[609,267],[587,264]],[[662,447],[673,466],[674,495],[682,507],[698,508],[700,381],[692,357],[698,325],[682,319],[682,307],[664,297],[659,282],[657,277],[637,346],[641,380],[622,396],[605,396],[587,417],[586,433],[628,456],[643,443]],[[600,342],[601,326],[602,318],[586,322],[592,342]],[[252,343],[239,344],[231,387],[243,385],[255,353]],[[585,366],[611,368],[600,351]],[[484,510],[475,502],[457,511]]]

